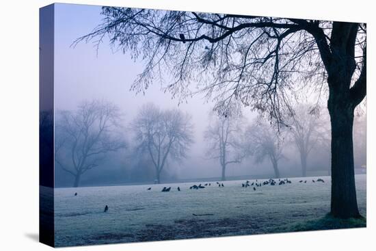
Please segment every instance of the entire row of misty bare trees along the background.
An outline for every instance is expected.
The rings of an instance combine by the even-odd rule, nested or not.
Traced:
[[[229,166],[253,159],[255,163],[267,160],[275,178],[280,178],[278,163],[287,159],[284,149],[294,147],[299,153],[301,176],[306,176],[310,152],[330,140],[327,118],[308,104],[300,105],[290,124],[279,129],[258,117],[248,123],[241,114],[222,116],[209,114],[209,124],[203,138],[207,144],[205,159],[218,161],[221,180],[226,180]],[[326,121],[326,123],[325,123]],[[360,121],[361,123],[361,121]],[[100,166],[110,153],[126,150],[127,162],[143,162],[152,166],[155,183],[161,183],[161,174],[169,162],[187,159],[193,145],[191,115],[178,109],[160,109],[152,103],[143,105],[129,123],[134,144],[124,136],[122,113],[107,101],[84,101],[75,111],[58,111],[55,126],[56,166],[72,176],[72,186],[78,187],[83,174]],[[361,131],[362,137],[365,130]],[[365,148],[363,140],[357,141]],[[358,154],[362,155],[361,150]]]

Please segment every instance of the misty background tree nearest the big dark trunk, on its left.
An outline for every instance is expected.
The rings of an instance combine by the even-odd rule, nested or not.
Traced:
[[[307,174],[307,159],[312,148],[323,140],[322,120],[319,118],[319,107],[308,104],[299,104],[294,109],[295,114],[288,124],[293,143],[299,151],[301,161],[301,176]]]

